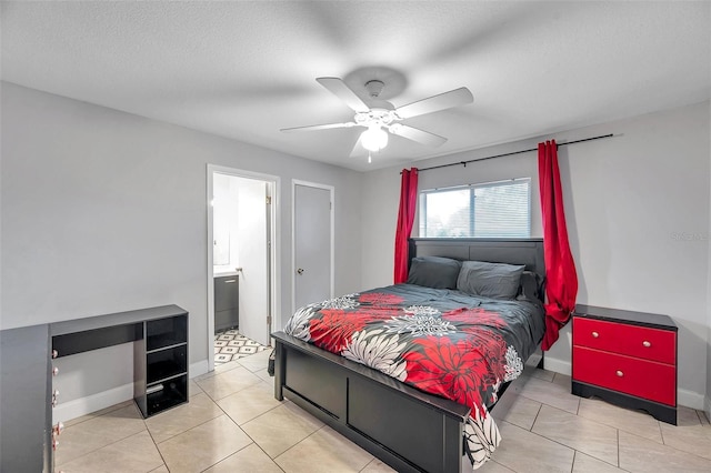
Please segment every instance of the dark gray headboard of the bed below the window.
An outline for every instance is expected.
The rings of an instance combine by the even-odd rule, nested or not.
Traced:
[[[545,276],[543,239],[410,239],[410,258],[447,256],[462,261],[525,264],[525,269]]]

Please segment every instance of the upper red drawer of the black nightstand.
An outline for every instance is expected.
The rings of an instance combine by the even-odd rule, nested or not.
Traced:
[[[677,334],[669,330],[629,325],[578,316],[573,320],[573,345],[604,350],[644,360],[674,364]]]

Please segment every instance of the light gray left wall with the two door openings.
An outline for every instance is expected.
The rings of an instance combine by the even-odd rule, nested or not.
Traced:
[[[359,289],[360,173],[0,85],[2,329],[174,303],[190,312],[190,362],[207,369],[208,163],[282,179],[278,323],[291,300],[292,179],[336,188],[336,290]],[[122,373],[127,362],[101,364]]]

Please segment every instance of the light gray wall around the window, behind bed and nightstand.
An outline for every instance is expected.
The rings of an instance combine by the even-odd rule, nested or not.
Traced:
[[[611,139],[559,149],[568,230],[580,281],[578,302],[672,316],[679,325],[679,400],[701,407],[711,323],[705,238],[711,193],[709,127],[709,102],[704,102],[421,161],[417,167],[535,148],[543,139],[565,142],[614,133]],[[399,171],[373,171],[363,181],[364,233],[379,238],[363,235],[362,286],[392,281]],[[420,189],[525,175],[538,189],[535,152],[422,172]],[[540,202],[538,194],[532,202]],[[395,217],[373,218],[371,210],[377,208],[395,209]],[[532,236],[542,236],[540,204],[532,210]],[[570,371],[569,326],[547,354],[547,365]]]

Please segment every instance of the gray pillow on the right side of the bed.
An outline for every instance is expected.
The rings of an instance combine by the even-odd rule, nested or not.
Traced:
[[[464,261],[457,280],[457,289],[472,295],[513,299],[524,265]]]

